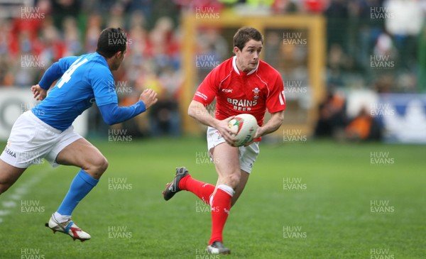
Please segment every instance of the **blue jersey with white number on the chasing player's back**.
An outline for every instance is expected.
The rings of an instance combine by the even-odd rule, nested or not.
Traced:
[[[48,97],[32,109],[41,121],[64,131],[94,101],[98,106],[118,104],[114,77],[102,55],[63,57],[57,66],[62,77]]]

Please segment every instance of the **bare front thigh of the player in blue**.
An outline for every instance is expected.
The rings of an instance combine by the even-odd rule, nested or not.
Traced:
[[[106,170],[108,166],[104,155],[85,138],[75,140],[63,148],[58,153],[56,162],[60,165],[75,165],[86,171]],[[91,172],[88,173],[92,175]]]

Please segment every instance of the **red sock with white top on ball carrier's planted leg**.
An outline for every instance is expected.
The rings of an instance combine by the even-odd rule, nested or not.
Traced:
[[[209,241],[211,245],[214,241],[223,241],[222,233],[226,219],[228,219],[231,209],[231,199],[234,195],[234,189],[225,184],[217,187],[216,193],[212,198],[212,236]]]

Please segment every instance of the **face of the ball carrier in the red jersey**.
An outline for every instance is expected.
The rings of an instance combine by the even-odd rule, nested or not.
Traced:
[[[255,69],[258,65],[262,48],[262,42],[253,39],[249,40],[242,50],[234,47],[236,66],[239,70],[249,72]]]

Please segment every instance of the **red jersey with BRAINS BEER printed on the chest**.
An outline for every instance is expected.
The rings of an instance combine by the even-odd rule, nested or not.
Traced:
[[[270,113],[285,109],[284,84],[280,73],[259,60],[250,72],[236,67],[236,56],[229,58],[207,75],[195,92],[194,101],[207,106],[216,97],[216,119],[252,114],[263,125],[266,109]]]

